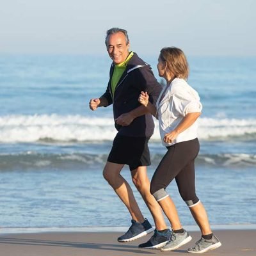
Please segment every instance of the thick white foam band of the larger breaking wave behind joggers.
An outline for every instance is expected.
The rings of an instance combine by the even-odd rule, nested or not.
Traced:
[[[158,122],[152,140],[159,141]],[[0,116],[0,142],[105,141],[113,140],[113,118],[82,115]],[[256,119],[200,118],[201,140],[255,140]]]

